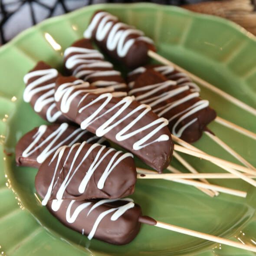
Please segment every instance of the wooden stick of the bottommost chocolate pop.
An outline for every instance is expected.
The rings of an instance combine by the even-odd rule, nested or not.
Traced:
[[[140,221],[140,219],[139,219],[139,221]],[[141,222],[143,223],[143,220]],[[183,228],[183,227],[174,226],[174,225],[167,224],[167,223],[164,223],[164,222],[156,221],[156,224],[154,226],[158,226],[158,227],[161,227],[161,228],[166,229],[166,230],[171,230],[171,231],[174,231],[174,232],[186,234],[188,236],[194,236],[194,237],[201,238],[201,239],[204,239],[204,240],[209,240],[209,241],[212,241],[212,242],[215,242],[215,243],[225,244],[225,245],[228,245],[228,246],[232,246],[232,247],[236,247],[236,248],[256,252],[256,246],[246,245],[246,244],[235,242],[235,241],[232,241],[232,240],[229,240],[229,239],[226,239],[226,238],[213,236],[213,235],[209,235],[209,234],[194,231],[194,230],[189,230],[189,229],[186,229],[186,228]]]

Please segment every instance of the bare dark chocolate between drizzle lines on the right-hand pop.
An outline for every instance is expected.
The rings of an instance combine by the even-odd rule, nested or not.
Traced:
[[[153,69],[148,69],[137,77],[132,89],[134,90],[134,89],[142,88],[146,85],[154,85],[154,84],[158,84],[158,83],[162,83],[162,82],[166,82],[166,81],[168,81],[168,79],[166,77],[164,77],[163,75],[161,75],[159,72],[156,72]],[[152,98],[154,96],[162,95],[163,93],[168,93],[168,92],[171,92],[172,90],[178,89],[178,88],[181,88],[181,86],[171,85],[169,87],[166,87],[164,89],[161,89],[161,90],[155,92],[153,95],[150,95],[150,97],[143,98],[143,101],[147,98]],[[129,94],[134,95],[136,98],[148,91],[150,91],[150,90],[145,90],[145,91],[140,91],[140,92],[135,92],[135,93],[130,91]],[[180,93],[172,96],[171,98],[167,98],[164,101],[159,102],[157,105],[152,106],[152,110],[156,114],[158,114],[164,109],[164,107],[167,107],[167,104],[171,105],[173,102],[175,102],[181,98],[184,98],[188,95],[191,95],[192,93],[193,92],[190,91],[189,87],[187,87],[187,89],[185,89],[183,92],[180,92]],[[164,97],[164,95],[163,95],[163,97]],[[181,104],[178,104],[177,106],[171,108],[170,110],[168,110],[167,112],[165,112],[164,114],[161,115],[162,117],[169,120],[168,126],[172,133],[174,133],[174,130],[173,130],[174,125],[179,120],[179,118],[184,116],[189,111],[189,108],[192,105],[194,105],[195,103],[197,103],[201,100],[202,99],[200,97],[195,96],[189,100],[184,101]],[[146,104],[150,105],[150,102],[147,102]],[[162,107],[162,109],[160,111],[158,111],[158,109],[161,107]],[[181,113],[181,112],[183,112],[183,113]],[[179,114],[179,113],[181,113],[181,114]],[[170,121],[170,118],[174,117],[174,115],[177,115],[177,116]],[[195,119],[194,123],[192,123],[187,128],[185,128],[185,130],[181,134],[181,139],[183,139],[184,141],[194,142],[194,141],[197,141],[202,136],[202,133],[205,130],[206,126],[211,121],[213,121],[214,118],[216,118],[216,112],[210,107],[205,107],[205,108],[187,116],[187,118],[184,118],[184,120],[182,120],[177,125],[175,131],[178,131],[184,125],[188,124],[190,121]]]

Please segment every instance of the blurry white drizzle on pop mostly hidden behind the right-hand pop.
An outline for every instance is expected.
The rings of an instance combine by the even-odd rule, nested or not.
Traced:
[[[166,76],[167,79],[175,80],[177,82],[178,86],[189,86],[191,92],[200,92],[200,88],[198,85],[190,79],[190,77],[183,73],[183,72],[175,72],[174,73],[174,67],[171,66],[157,66],[154,67],[154,70],[161,73],[162,75]],[[146,68],[139,67],[133,71],[131,71],[128,75],[135,75],[135,74],[141,74],[146,71]],[[133,88],[134,81],[131,81],[128,83],[129,88]]]

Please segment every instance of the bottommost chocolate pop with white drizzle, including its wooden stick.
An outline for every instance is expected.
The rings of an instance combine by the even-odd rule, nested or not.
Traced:
[[[245,245],[143,216],[141,207],[130,198],[84,201],[53,200],[47,204],[47,208],[65,226],[88,236],[89,240],[96,238],[107,243],[123,245],[135,239],[141,223],[144,223],[256,252],[254,245]]]

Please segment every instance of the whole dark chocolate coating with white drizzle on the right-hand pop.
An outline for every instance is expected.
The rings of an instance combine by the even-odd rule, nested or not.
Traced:
[[[187,142],[197,141],[206,126],[216,118],[216,112],[207,105],[208,101],[199,97],[198,92],[193,94],[189,86],[179,86],[168,81],[159,72],[148,69],[135,79],[129,95],[134,95],[141,103],[151,105],[156,114],[168,119],[172,134]],[[164,87],[164,82],[170,85]],[[155,87],[146,89],[148,85]],[[163,88],[159,89],[160,86]],[[158,102],[155,102],[154,97],[159,97]]]

